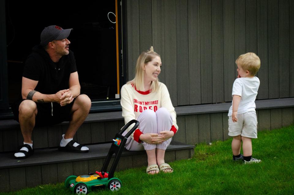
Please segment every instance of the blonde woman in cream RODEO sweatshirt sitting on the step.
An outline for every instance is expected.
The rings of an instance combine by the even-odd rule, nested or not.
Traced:
[[[138,129],[128,138],[126,149],[145,150],[148,174],[159,171],[172,172],[164,162],[164,154],[178,130],[175,109],[171,104],[168,89],[159,82],[161,59],[153,51],[142,52],[136,63],[135,78],[121,89],[121,105],[125,123],[132,119],[140,122]],[[130,130],[129,127],[128,130]],[[125,131],[125,134],[127,131]]]

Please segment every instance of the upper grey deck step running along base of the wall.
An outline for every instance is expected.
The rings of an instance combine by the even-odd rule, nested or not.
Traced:
[[[281,128],[293,124],[294,98],[257,100],[257,129]],[[179,131],[173,140],[194,145],[227,140],[228,109],[232,103],[191,105],[176,107]],[[122,113],[90,113],[78,129],[74,140],[80,144],[96,144],[111,141],[113,135],[124,125]],[[66,132],[68,122],[53,126],[34,128],[34,148],[57,147]],[[15,120],[0,120],[0,153],[13,152],[23,144],[19,123]]]

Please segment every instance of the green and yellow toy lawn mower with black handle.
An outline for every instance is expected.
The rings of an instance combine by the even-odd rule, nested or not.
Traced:
[[[123,136],[123,132],[133,123],[135,123],[134,127],[126,134],[126,136]],[[126,145],[126,140],[138,128],[138,126],[139,122],[137,120],[131,120],[115,135],[115,139],[113,139],[100,172],[96,171],[96,174],[89,173],[88,175],[80,175],[78,177],[71,175],[66,178],[64,182],[65,187],[69,187],[72,192],[77,194],[86,194],[94,189],[101,188],[110,189],[111,191],[119,190],[122,187],[122,182],[119,178],[114,178],[113,174]],[[115,159],[109,172],[106,172],[113,154],[115,154]]]

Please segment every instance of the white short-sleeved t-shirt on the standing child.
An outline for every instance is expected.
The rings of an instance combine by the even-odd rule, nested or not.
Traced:
[[[238,107],[237,114],[255,111],[255,98],[259,87],[259,79],[257,77],[236,78],[233,84],[232,96],[239,95],[241,100]],[[232,116],[233,102],[229,109],[228,116]]]

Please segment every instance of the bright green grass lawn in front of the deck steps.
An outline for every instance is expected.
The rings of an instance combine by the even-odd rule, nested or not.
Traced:
[[[90,194],[294,194],[294,126],[258,132],[257,164],[232,162],[231,141],[198,144],[192,159],[171,162],[171,174],[148,175],[146,167],[115,173],[122,188]],[[0,193],[4,194],[4,193]],[[8,194],[72,194],[63,183]]]

